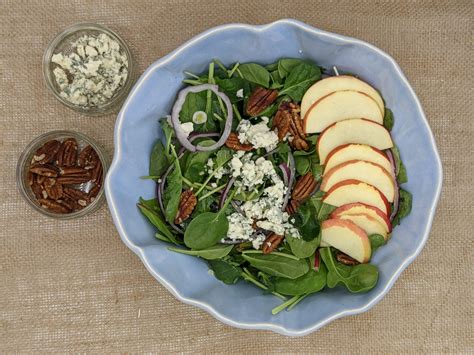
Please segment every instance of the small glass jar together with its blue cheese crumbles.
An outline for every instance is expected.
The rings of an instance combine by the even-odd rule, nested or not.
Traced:
[[[43,57],[47,86],[64,105],[89,115],[120,109],[133,84],[133,59],[122,38],[97,24],[62,31]]]

